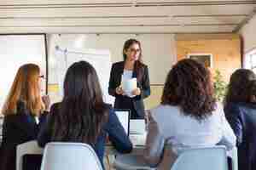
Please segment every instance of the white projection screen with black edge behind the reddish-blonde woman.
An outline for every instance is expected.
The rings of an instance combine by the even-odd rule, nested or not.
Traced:
[[[9,89],[20,65],[34,63],[40,66],[46,77],[46,51],[44,34],[0,35],[0,110],[2,110]],[[45,93],[44,79],[42,94]]]

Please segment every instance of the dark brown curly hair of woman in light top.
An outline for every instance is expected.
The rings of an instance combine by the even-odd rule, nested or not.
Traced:
[[[210,72],[194,59],[180,60],[166,78],[161,104],[179,105],[197,120],[211,116],[216,104]]]

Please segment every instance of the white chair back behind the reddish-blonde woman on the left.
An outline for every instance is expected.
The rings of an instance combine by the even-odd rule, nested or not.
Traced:
[[[43,149],[38,146],[36,140],[19,144],[16,149],[16,169],[22,170],[23,156],[26,154],[43,154]]]

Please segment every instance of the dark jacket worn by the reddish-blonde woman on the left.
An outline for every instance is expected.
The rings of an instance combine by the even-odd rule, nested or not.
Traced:
[[[44,115],[40,116],[39,124],[33,116],[23,111],[4,116],[0,169],[15,170],[16,146],[37,139],[41,122],[45,120]]]

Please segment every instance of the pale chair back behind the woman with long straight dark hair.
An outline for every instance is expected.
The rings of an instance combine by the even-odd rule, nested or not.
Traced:
[[[102,170],[101,162],[89,144],[51,142],[44,149],[41,170]]]

